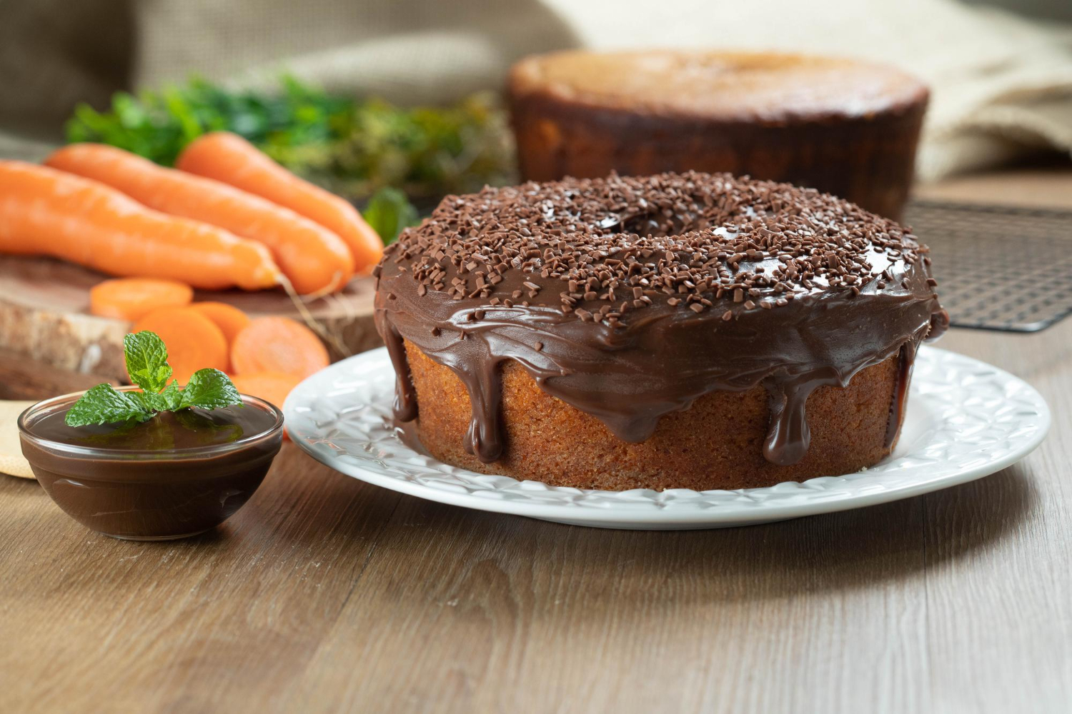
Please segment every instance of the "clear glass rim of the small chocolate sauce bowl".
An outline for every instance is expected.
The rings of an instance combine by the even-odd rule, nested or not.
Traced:
[[[116,390],[120,392],[133,392],[136,391],[138,386],[136,385],[123,385],[117,386]],[[148,449],[116,449],[108,446],[84,446],[80,444],[72,444],[64,441],[56,441],[54,439],[46,439],[44,437],[33,434],[31,430],[31,420],[44,414],[49,414],[58,409],[62,409],[78,399],[88,390],[83,390],[81,392],[70,392],[68,394],[61,394],[59,396],[50,397],[48,399],[42,399],[26,409],[18,415],[16,424],[18,425],[19,436],[29,441],[30,443],[48,449],[49,451],[62,453],[66,456],[74,456],[80,458],[115,458],[122,457],[123,459],[131,459],[134,457],[144,457],[146,460],[197,460],[203,458],[208,458],[211,456],[219,456],[220,454],[226,454],[235,451],[239,451],[247,446],[257,444],[263,441],[267,441],[277,435],[281,435],[283,431],[283,410],[276,405],[262,399],[260,397],[255,397],[251,394],[239,394],[242,398],[242,405],[247,407],[253,407],[268,412],[274,416],[274,422],[268,428],[257,431],[249,436],[243,436],[236,441],[228,441],[222,444],[211,444],[208,446],[184,446],[181,449],[165,449],[165,450],[148,450]]]

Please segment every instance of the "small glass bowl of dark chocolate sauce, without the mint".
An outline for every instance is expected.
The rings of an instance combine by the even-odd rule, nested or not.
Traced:
[[[253,495],[282,442],[281,415],[258,399],[70,427],[63,417],[77,396],[24,415],[23,453],[68,515],[116,537],[167,540],[218,526]]]

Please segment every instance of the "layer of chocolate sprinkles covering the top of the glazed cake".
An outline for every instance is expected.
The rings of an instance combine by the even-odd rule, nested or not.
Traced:
[[[419,294],[435,290],[488,307],[527,297],[621,325],[628,322],[623,297],[635,309],[661,301],[699,313],[727,299],[859,292],[877,277],[877,256],[911,264],[919,253],[896,223],[814,189],[662,173],[448,196],[385,260],[411,267]],[[505,279],[511,274],[520,278]],[[605,305],[612,310],[601,312]]]

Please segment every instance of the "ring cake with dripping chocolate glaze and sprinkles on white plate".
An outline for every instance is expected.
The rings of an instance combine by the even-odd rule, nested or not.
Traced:
[[[443,461],[554,485],[857,471],[948,324],[926,254],[847,201],[729,174],[448,196],[376,271],[396,416]]]

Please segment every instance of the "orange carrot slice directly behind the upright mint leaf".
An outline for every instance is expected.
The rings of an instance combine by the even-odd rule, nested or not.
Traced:
[[[150,330],[167,347],[167,363],[180,384],[205,367],[227,370],[227,339],[223,331],[192,307],[162,307],[134,323],[133,331]]]

